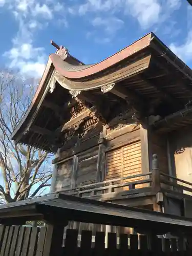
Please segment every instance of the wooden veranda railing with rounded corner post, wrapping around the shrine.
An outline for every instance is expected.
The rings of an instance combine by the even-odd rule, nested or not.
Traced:
[[[188,193],[190,195],[191,193],[192,196],[192,183],[161,172],[156,155],[153,155],[152,171],[147,174],[106,180],[82,185],[73,189],[63,189],[59,192],[78,197],[93,198],[94,196],[112,195],[122,191],[127,191],[127,194],[129,194],[131,192],[130,190],[137,189],[138,185],[144,184],[147,184],[147,187],[150,187],[154,194],[157,194],[166,186],[166,189],[177,191],[177,193],[181,194]]]

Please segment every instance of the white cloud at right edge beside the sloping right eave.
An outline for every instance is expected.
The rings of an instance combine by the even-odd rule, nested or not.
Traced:
[[[188,61],[192,59],[192,30],[189,31],[184,44],[178,45],[172,43],[170,49],[182,60]]]

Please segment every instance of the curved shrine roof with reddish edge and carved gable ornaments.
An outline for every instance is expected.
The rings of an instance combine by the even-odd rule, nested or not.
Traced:
[[[98,100],[112,104],[121,98],[123,102],[130,94],[152,102],[166,94],[179,108],[192,98],[191,81],[190,68],[153,33],[93,65],[83,65],[61,48],[49,56],[29,109],[11,138],[51,151],[51,134],[61,125],[55,116],[72,96],[88,93],[94,105]]]

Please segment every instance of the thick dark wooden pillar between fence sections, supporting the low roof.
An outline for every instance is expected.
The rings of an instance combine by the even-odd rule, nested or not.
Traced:
[[[44,252],[42,256],[62,254],[64,227],[62,225],[47,225]]]

